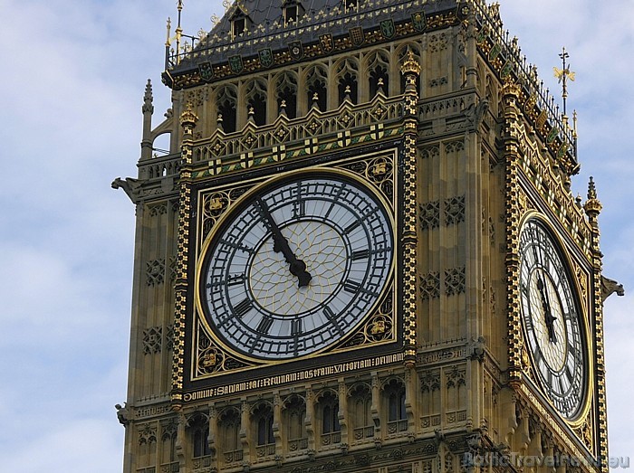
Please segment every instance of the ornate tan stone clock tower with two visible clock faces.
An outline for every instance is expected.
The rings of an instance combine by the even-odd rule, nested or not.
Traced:
[[[608,470],[601,205],[496,5],[238,0],[163,82],[126,473]]]

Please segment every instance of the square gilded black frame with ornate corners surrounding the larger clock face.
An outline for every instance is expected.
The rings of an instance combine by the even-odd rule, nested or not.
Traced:
[[[262,368],[264,366],[279,366],[283,364],[293,364],[296,361],[303,361],[310,359],[314,361],[323,355],[338,355],[345,354],[351,351],[362,350],[368,347],[376,347],[379,345],[395,344],[398,347],[394,350],[402,351],[402,346],[397,344],[402,337],[402,315],[399,314],[398,300],[398,288],[395,284],[397,278],[397,261],[399,260],[399,185],[397,166],[399,163],[399,155],[402,150],[398,146],[385,147],[374,152],[360,153],[352,157],[340,157],[334,158],[331,161],[324,161],[323,163],[293,168],[288,171],[284,171],[281,174],[269,173],[264,175],[258,175],[253,178],[240,180],[237,183],[227,183],[222,185],[205,186],[197,190],[197,203],[195,208],[197,209],[197,215],[193,219],[193,223],[196,228],[196,232],[192,237],[195,240],[195,244],[192,245],[195,253],[192,255],[195,261],[195,272],[189,294],[193,297],[192,314],[191,314],[191,332],[189,334],[189,363],[187,375],[188,383],[197,383],[199,381],[208,380],[217,376],[226,374],[240,374],[248,372],[256,368]],[[207,317],[204,316],[203,301],[200,294],[199,280],[203,275],[204,260],[209,250],[210,245],[215,240],[216,233],[223,228],[224,224],[234,217],[235,209],[239,209],[245,201],[257,194],[260,190],[270,187],[282,180],[292,178],[293,175],[310,175],[310,173],[318,173],[321,175],[339,175],[346,179],[358,182],[379,201],[379,203],[385,208],[388,215],[389,225],[391,226],[393,235],[394,251],[392,254],[392,260],[389,268],[389,277],[379,298],[368,310],[365,317],[359,321],[359,323],[351,329],[345,336],[338,342],[333,342],[331,345],[322,347],[321,349],[312,352],[308,355],[302,355],[293,359],[283,360],[263,360],[260,358],[250,358],[239,352],[236,352],[230,345],[227,345],[223,340],[214,334],[213,329],[209,326]],[[235,200],[229,200],[228,194],[236,189],[240,189],[239,196]],[[387,190],[386,190],[387,189]],[[391,193],[391,195],[389,195]],[[216,205],[223,205],[221,213],[218,213],[213,218],[211,227],[207,225],[207,232],[205,224],[203,222],[202,215],[204,213],[203,204],[209,203],[209,197],[215,195],[219,199],[216,201]],[[223,195],[226,198],[223,201]],[[389,326],[389,336],[384,339],[370,340],[367,336],[370,323],[377,323],[380,319],[386,320],[386,326]],[[365,338],[360,344],[352,343],[357,336],[364,335]],[[222,363],[228,367],[223,366],[214,370],[209,370],[208,373],[202,374],[197,369],[197,363],[201,356],[201,350],[199,342],[201,336],[207,337],[215,348],[211,351],[211,361],[216,362],[216,355],[222,358]],[[210,353],[211,353],[210,352]],[[226,363],[228,361],[228,363]],[[325,361],[325,360],[324,360]]]

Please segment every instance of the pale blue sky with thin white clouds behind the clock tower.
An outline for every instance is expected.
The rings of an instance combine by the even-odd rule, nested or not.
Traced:
[[[209,29],[218,0],[186,0],[186,32]],[[542,79],[562,46],[576,80],[585,196],[597,182],[604,272],[634,291],[634,4],[503,0],[502,18]],[[121,470],[134,209],[117,176],[135,176],[141,105],[154,83],[176,0],[0,0],[0,456],[5,471]],[[610,454],[634,456],[630,297],[605,307]],[[71,447],[72,446],[72,447]],[[72,459],[72,460],[71,460]]]

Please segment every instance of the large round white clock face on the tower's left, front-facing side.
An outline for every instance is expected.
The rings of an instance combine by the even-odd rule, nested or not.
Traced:
[[[386,206],[341,173],[293,174],[230,211],[208,243],[200,300],[211,328],[259,359],[309,355],[350,334],[393,268]]]

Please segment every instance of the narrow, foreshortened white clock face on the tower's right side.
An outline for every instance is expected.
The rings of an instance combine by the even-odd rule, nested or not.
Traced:
[[[535,372],[555,408],[573,419],[585,397],[581,315],[559,246],[542,222],[520,236],[522,316]]]

